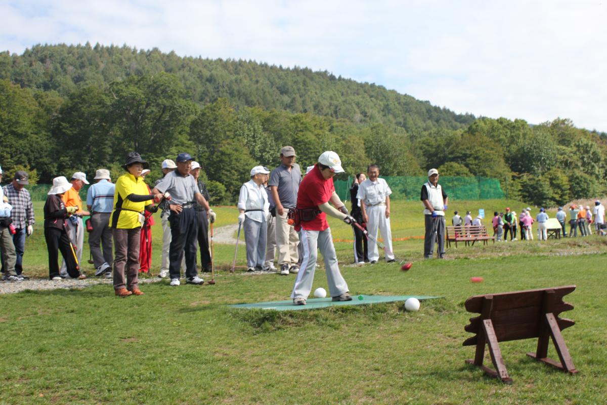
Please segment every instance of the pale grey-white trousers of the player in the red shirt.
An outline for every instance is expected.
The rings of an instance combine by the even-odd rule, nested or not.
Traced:
[[[314,270],[316,270],[316,260],[318,259],[317,250],[320,250],[325,260],[325,273],[327,274],[327,285],[330,296],[336,297],[347,293],[349,291],[348,284],[346,284],[344,277],[339,272],[337,254],[333,245],[333,237],[331,237],[331,228],[327,228],[324,231],[306,231],[302,229],[301,238],[304,248],[304,260],[302,260],[302,267],[297,273],[291,298],[302,297],[308,299],[314,281]]]

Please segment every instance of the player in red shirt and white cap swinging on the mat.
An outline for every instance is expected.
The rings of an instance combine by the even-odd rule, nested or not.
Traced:
[[[339,156],[333,151],[327,151],[320,155],[318,163],[299,185],[296,209],[300,218],[300,240],[304,247],[304,259],[291,293],[295,305],[305,305],[310,295],[318,258],[317,249],[325,259],[327,284],[333,301],[352,299],[348,294],[348,285],[339,272],[331,229],[327,223],[327,214],[349,225],[356,221],[348,215],[347,208],[337,196],[333,186],[334,175],[343,172]],[[339,211],[330,206],[329,202]],[[299,231],[297,228],[296,231]]]

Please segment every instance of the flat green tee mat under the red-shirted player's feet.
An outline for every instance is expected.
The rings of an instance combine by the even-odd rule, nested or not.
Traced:
[[[362,299],[361,299],[362,298]],[[379,304],[381,302],[407,301],[409,298],[424,299],[441,298],[432,295],[353,295],[352,301],[331,301],[329,298],[310,298],[306,305],[294,305],[292,299],[286,301],[256,302],[253,304],[230,305],[234,308],[262,309],[276,311],[311,310],[316,308],[336,307],[342,305]]]

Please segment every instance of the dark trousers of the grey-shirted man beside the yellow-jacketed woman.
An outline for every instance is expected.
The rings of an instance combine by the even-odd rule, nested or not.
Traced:
[[[171,245],[169,246],[169,274],[171,278],[179,278],[181,271],[181,258],[186,255],[186,277],[194,277],[196,271],[196,244],[198,233],[198,220],[196,211],[185,208],[180,213],[171,211]]]

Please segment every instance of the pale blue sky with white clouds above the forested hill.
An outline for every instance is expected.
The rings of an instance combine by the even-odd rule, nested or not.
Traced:
[[[157,47],[310,67],[458,113],[607,131],[607,0],[7,1],[0,51]]]

